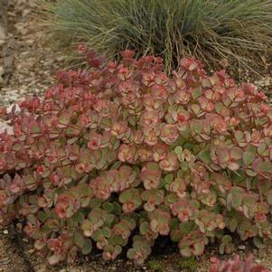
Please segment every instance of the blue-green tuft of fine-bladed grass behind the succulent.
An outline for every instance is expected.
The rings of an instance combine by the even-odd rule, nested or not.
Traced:
[[[168,72],[184,56],[210,68],[228,59],[236,71],[240,67],[258,71],[272,49],[270,0],[44,0],[44,4],[48,34],[61,50],[81,42],[118,58],[129,48],[138,57],[163,57]]]

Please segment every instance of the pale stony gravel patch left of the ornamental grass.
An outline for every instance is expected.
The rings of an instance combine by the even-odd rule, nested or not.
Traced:
[[[61,52],[52,51],[43,39],[42,25],[35,18],[39,2],[8,1],[5,39],[0,35],[0,104],[40,95],[63,62]]]

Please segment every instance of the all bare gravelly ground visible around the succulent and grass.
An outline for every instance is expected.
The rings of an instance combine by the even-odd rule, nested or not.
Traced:
[[[0,105],[12,105],[25,95],[41,95],[52,84],[55,71],[63,67],[63,52],[52,50],[44,39],[37,16],[39,3],[40,0],[0,0]],[[262,74],[258,78],[248,73],[244,78],[269,91],[270,72],[266,70]],[[99,252],[80,257],[75,264],[49,267],[43,258],[34,254],[33,241],[26,239],[20,229],[20,225],[0,227],[0,272],[186,271],[176,246],[164,239],[155,245],[155,253],[144,267],[135,267],[126,258],[106,262]],[[251,242],[238,240],[236,248],[242,258],[253,254],[257,262],[272,267],[272,242],[267,242],[266,249],[258,250]],[[218,245],[209,246],[206,252],[194,261],[196,271],[208,270],[210,258],[218,255]],[[152,269],[151,260],[157,270]]]

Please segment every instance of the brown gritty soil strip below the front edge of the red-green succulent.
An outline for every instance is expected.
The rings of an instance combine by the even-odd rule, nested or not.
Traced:
[[[184,268],[187,262],[179,255],[177,247],[168,240],[161,239],[155,245],[154,251],[144,267],[135,267],[126,258],[107,262],[98,252],[85,258],[79,257],[74,264],[50,267],[43,258],[34,254],[33,242],[24,238],[20,230],[14,226],[8,230],[0,230],[0,272],[207,272],[211,265],[211,257],[230,258],[219,256],[218,246],[213,244],[206,249],[202,257],[192,261],[195,270],[189,270]],[[250,241],[238,240],[234,254],[239,254],[241,258],[252,254],[257,263],[266,265],[272,271],[271,241],[267,242],[266,249],[255,249]],[[157,267],[157,270],[152,267]]]

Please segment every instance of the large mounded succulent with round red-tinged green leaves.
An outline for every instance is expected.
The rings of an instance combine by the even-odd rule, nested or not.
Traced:
[[[263,247],[272,236],[266,96],[194,59],[167,77],[159,57],[80,52],[89,72],[60,71],[43,98],[0,109],[14,128],[0,135],[1,224],[23,220],[52,265],[93,247],[107,260],[129,247],[141,265],[159,236],[188,258],[214,240],[230,253],[230,232]]]

